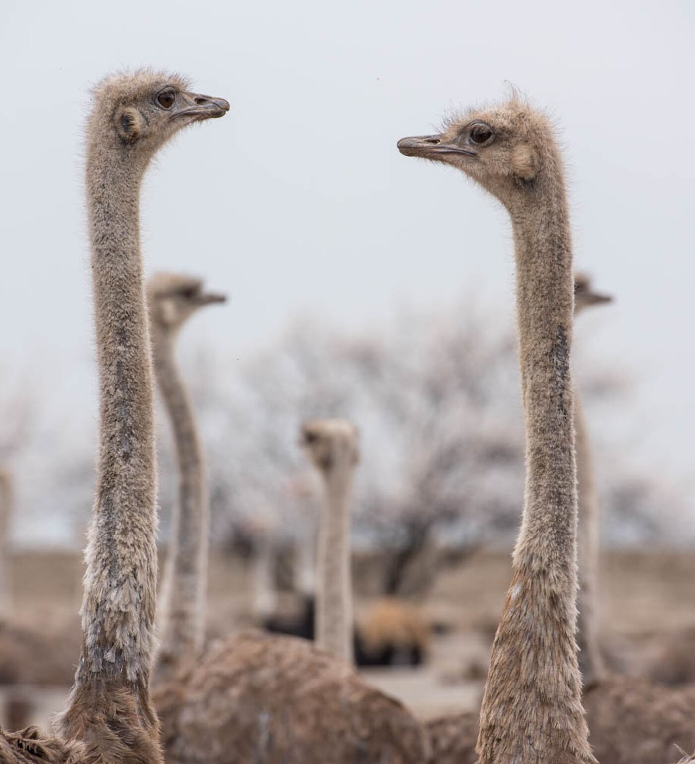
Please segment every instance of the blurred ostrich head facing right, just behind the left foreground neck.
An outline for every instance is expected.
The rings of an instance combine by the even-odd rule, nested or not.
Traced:
[[[152,322],[168,332],[176,332],[204,305],[224,303],[226,296],[205,292],[202,280],[181,274],[155,274],[147,283],[147,301]]]

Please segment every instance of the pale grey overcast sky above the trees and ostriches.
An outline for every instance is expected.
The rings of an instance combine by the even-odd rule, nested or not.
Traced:
[[[233,297],[186,342],[240,358],[298,311],[363,326],[472,286],[509,319],[505,213],[395,145],[509,80],[558,122],[577,265],[618,298],[580,341],[635,371],[647,452],[687,474],[693,19],[689,0],[2,0],[5,372],[33,359],[52,405],[92,406],[82,125],[106,73],[179,70],[231,102],[163,152],[143,222],[150,272],[201,274]]]

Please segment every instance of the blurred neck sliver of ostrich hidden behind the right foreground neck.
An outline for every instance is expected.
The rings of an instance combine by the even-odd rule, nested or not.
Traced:
[[[579,492],[579,530],[577,558],[579,594],[577,597],[577,643],[579,668],[584,688],[606,675],[599,643],[598,575],[600,550],[600,507],[593,474],[591,443],[577,388],[574,388],[574,429],[577,433],[577,490]]]

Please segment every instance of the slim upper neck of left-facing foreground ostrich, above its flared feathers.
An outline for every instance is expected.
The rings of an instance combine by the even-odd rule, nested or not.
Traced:
[[[554,194],[542,214],[513,219],[519,364],[525,414],[526,490],[518,562],[574,569],[577,494],[570,351],[574,312],[567,205]],[[576,575],[564,581],[574,597]],[[574,607],[574,605],[573,605]]]

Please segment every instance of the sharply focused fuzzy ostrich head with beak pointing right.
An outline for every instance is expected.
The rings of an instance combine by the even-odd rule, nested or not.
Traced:
[[[229,111],[225,99],[191,92],[183,77],[147,69],[102,80],[93,97],[89,134],[144,158],[186,125]]]

